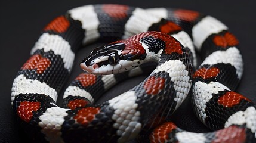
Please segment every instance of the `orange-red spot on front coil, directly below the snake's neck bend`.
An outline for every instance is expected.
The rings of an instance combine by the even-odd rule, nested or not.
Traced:
[[[158,94],[158,92],[163,89],[165,86],[165,79],[161,77],[149,77],[147,81],[144,83],[143,88],[146,90],[147,94]]]

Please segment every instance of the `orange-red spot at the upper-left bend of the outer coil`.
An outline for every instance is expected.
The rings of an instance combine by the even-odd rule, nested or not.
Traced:
[[[60,16],[51,21],[45,28],[44,31],[52,30],[57,33],[64,33],[69,28],[70,23],[66,17]]]

